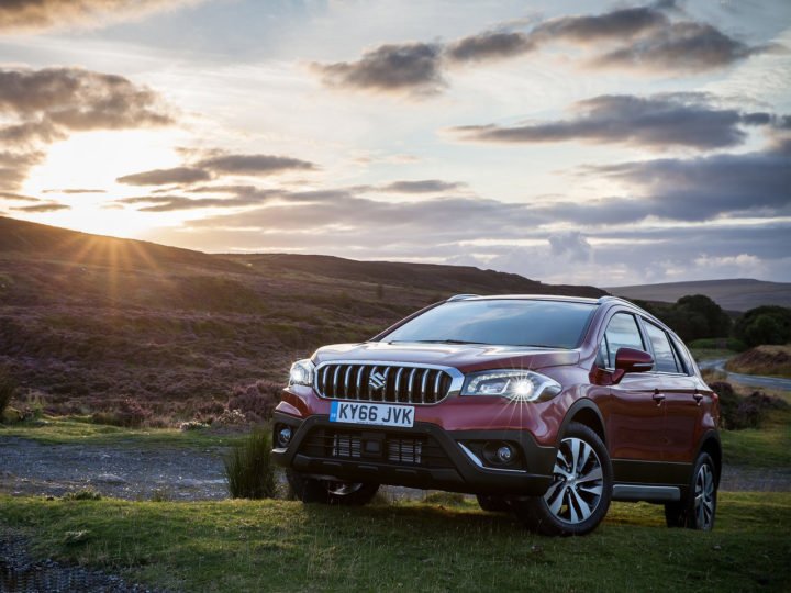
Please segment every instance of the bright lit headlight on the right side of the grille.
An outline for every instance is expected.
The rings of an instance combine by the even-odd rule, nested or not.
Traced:
[[[560,383],[527,370],[493,370],[468,374],[461,395],[495,395],[516,402],[549,400],[560,393]]]

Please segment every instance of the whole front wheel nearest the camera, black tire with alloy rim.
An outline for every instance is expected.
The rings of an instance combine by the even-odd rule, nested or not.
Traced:
[[[543,496],[514,499],[516,516],[548,536],[581,536],[602,522],[612,497],[612,463],[599,435],[571,423],[558,447],[553,483]]]

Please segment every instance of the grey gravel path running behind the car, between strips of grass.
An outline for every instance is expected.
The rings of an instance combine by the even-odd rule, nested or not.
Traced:
[[[62,496],[90,489],[126,500],[227,497],[222,450],[131,446],[42,445],[0,437],[0,492]],[[726,491],[791,491],[791,468],[723,468]],[[389,499],[422,499],[425,491],[387,488]]]

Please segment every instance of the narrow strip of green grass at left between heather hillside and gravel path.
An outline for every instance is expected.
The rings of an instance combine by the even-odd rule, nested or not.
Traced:
[[[92,424],[83,416],[46,416],[44,422],[0,424],[0,437],[30,438],[48,445],[134,445],[136,447],[223,447],[239,443],[244,435],[178,428],[122,428]]]

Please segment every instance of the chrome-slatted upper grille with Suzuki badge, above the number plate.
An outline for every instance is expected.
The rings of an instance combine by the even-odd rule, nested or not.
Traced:
[[[315,388],[331,400],[433,404],[448,394],[452,381],[435,368],[331,362],[316,372]]]

